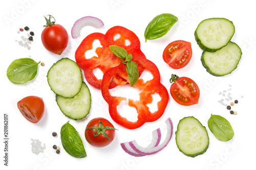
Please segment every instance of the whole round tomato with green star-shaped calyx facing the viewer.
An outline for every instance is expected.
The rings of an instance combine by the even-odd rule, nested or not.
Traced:
[[[87,127],[84,135],[88,143],[94,147],[105,147],[109,145],[115,137],[114,126],[109,122],[109,120],[103,117],[97,117],[92,119]]]

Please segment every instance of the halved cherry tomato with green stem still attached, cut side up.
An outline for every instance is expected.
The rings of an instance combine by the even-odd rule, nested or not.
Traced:
[[[177,103],[184,106],[198,104],[200,90],[196,82],[187,77],[172,75],[170,83],[173,83],[170,86],[170,94]]]

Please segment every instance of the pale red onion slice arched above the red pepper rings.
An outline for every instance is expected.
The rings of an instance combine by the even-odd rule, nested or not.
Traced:
[[[104,23],[96,17],[93,16],[85,16],[78,19],[72,29],[71,29],[71,36],[72,38],[77,38],[80,36],[80,31],[83,27],[92,26],[94,28],[100,28],[104,26]]]

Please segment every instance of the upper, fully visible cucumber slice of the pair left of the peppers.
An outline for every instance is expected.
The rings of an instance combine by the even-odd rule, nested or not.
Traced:
[[[74,98],[82,87],[81,69],[69,58],[62,58],[53,64],[47,79],[51,90],[64,98]]]

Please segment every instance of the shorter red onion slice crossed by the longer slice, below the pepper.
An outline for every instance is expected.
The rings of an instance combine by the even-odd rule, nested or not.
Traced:
[[[152,135],[153,135],[152,141],[151,141],[151,143],[150,143],[146,148],[153,148],[153,147],[156,147],[156,146],[159,144],[160,140],[161,140],[161,131],[160,131],[159,128],[156,129],[156,130],[154,130],[154,131],[152,132]],[[127,154],[130,154],[130,155],[132,155],[132,156],[136,156],[136,157],[144,156],[144,155],[138,154],[136,151],[134,151],[134,150],[131,148],[129,142],[121,143],[121,147],[122,147],[122,149],[123,149]]]

